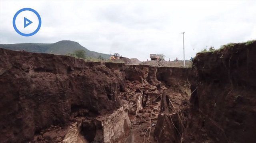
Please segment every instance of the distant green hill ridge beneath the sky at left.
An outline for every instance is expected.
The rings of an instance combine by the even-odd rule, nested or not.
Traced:
[[[100,55],[103,59],[109,59],[111,55],[90,51],[80,45],[78,42],[63,40],[56,43],[18,43],[18,44],[0,44],[0,48],[10,50],[25,50],[34,53],[52,53],[56,55],[66,55],[76,50],[86,51],[86,57],[98,58]]]

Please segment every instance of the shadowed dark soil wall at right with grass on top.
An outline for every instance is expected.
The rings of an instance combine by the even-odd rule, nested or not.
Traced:
[[[255,54],[254,41],[196,56],[186,142],[256,142]]]

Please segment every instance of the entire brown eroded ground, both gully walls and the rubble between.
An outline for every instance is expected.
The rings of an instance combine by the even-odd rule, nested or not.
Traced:
[[[255,49],[200,53],[192,68],[0,49],[1,142],[256,142]]]

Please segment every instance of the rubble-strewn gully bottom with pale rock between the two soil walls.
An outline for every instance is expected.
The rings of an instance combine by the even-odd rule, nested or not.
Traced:
[[[128,66],[128,69],[130,67],[134,72],[134,68],[138,66]],[[142,66],[143,68],[145,67]],[[156,67],[147,66],[147,68],[149,71],[138,72],[141,75],[132,75],[136,77],[129,78],[132,81],[124,79],[125,72],[114,69],[114,74],[119,76],[120,80],[125,80],[126,84],[126,88],[120,88],[122,92],[119,93],[116,90],[117,84],[111,84],[110,88],[105,87],[108,100],[113,100],[114,95],[121,100],[121,108],[114,113],[99,116],[87,108],[72,105],[70,117],[72,122],[67,129],[52,125],[39,135],[35,135],[32,142],[142,143],[164,142],[170,140],[170,137],[176,141],[180,140],[185,127],[183,124],[187,122],[190,83],[176,80],[178,83],[167,86],[157,80]],[[147,71],[148,74],[145,74]],[[165,69],[164,72],[170,71],[172,69]],[[179,133],[178,135],[172,135],[170,127],[173,125],[173,131]],[[154,131],[155,128],[157,132]]]

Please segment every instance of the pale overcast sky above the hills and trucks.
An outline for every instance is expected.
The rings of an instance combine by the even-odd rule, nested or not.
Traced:
[[[24,37],[12,25],[14,14],[33,8],[42,19],[38,33]],[[194,57],[208,46],[256,39],[256,1],[0,0],[0,43],[55,43],[72,40],[91,51],[149,59]]]

